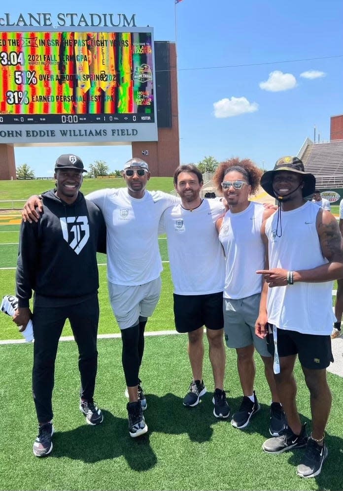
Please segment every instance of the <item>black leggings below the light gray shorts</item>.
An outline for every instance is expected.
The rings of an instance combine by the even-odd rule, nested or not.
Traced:
[[[144,353],[146,321],[146,317],[139,317],[138,324],[121,330],[123,342],[122,363],[128,387],[136,387],[139,383],[138,374]]]

